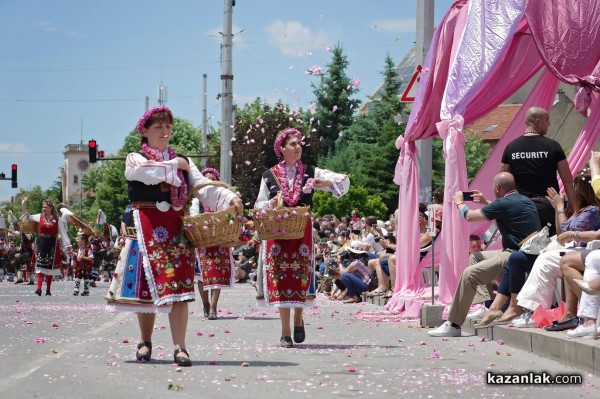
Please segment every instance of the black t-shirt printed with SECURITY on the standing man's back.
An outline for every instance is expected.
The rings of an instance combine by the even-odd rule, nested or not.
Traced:
[[[558,142],[544,136],[521,136],[511,141],[502,154],[502,163],[510,165],[517,191],[527,197],[546,196],[546,190],[558,191],[558,163],[566,159]]]

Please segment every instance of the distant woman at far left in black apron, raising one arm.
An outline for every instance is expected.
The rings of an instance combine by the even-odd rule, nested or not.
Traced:
[[[42,213],[30,215],[27,211],[27,197],[21,201],[22,220],[38,223],[37,237],[33,244],[31,264],[35,266],[37,289],[35,293],[42,295],[42,283],[46,280],[46,295],[52,295],[50,286],[54,276],[60,276],[62,257],[61,248],[65,252],[71,249],[67,233],[67,222],[58,217],[58,212],[50,200],[42,202]]]

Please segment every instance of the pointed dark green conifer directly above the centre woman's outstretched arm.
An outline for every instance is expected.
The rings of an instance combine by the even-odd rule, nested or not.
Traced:
[[[311,128],[322,137],[316,150],[319,155],[335,153],[335,142],[354,122],[354,111],[360,100],[352,99],[358,91],[346,75],[348,57],[338,44],[332,52],[332,60],[327,64],[327,72],[321,75],[321,83],[312,85],[316,99],[316,114],[310,118]]]

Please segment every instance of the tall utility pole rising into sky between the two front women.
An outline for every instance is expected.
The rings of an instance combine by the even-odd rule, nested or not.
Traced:
[[[221,53],[223,64],[221,66],[221,165],[219,172],[221,180],[231,183],[231,138],[233,137],[233,68],[231,65],[232,53],[232,14],[235,0],[225,0],[223,17],[223,44]]]

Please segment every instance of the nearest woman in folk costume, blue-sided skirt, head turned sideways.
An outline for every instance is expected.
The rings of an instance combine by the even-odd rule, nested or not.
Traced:
[[[209,180],[169,147],[172,124],[165,106],[146,111],[138,122],[141,148],[125,161],[133,226],[128,226],[107,302],[109,309],[138,314],[138,361],[151,359],[156,313],[169,313],[174,362],[191,366],[185,334],[188,302],[194,300],[194,253],[183,236],[181,216],[188,188]],[[194,195],[212,209],[242,211],[242,201],[223,187],[205,186]]]

